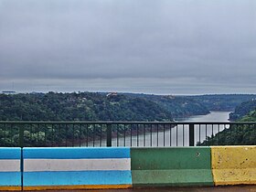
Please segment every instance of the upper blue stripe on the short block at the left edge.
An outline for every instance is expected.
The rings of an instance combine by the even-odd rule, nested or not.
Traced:
[[[21,148],[0,147],[0,159],[20,159]]]

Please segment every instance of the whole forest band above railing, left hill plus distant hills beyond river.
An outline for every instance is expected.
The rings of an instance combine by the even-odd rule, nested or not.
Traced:
[[[234,110],[253,98],[256,95],[0,94],[0,121],[172,121],[214,110]]]

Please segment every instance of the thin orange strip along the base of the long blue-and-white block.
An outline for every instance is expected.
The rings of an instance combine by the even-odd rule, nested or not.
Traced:
[[[131,188],[131,187],[132,185],[36,186],[36,187],[23,187],[23,190],[122,189],[122,188]]]

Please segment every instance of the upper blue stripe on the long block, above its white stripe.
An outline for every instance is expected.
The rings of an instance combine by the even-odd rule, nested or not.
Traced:
[[[23,156],[30,159],[131,158],[129,147],[26,147]]]

